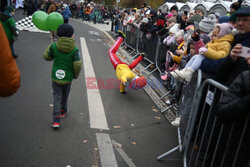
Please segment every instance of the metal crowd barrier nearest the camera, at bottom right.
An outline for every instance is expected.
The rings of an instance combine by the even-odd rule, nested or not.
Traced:
[[[245,148],[249,143],[250,114],[240,123],[223,123],[216,115],[225,91],[227,87],[212,79],[205,80],[196,89],[184,136],[178,128],[179,145],[158,160],[180,150],[184,153],[184,167],[247,167],[250,164],[249,150]]]

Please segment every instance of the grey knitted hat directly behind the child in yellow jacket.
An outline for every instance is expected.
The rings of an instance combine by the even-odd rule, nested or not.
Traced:
[[[205,33],[210,33],[213,31],[215,23],[216,23],[216,18],[213,17],[204,18],[199,23],[199,30]]]

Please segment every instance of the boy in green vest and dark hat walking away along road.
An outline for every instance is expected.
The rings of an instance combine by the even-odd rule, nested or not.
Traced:
[[[60,127],[60,117],[67,113],[67,101],[70,86],[81,70],[80,52],[74,41],[74,29],[69,24],[62,24],[57,29],[57,43],[48,46],[44,52],[45,60],[54,60],[52,68],[53,87],[53,128]]]

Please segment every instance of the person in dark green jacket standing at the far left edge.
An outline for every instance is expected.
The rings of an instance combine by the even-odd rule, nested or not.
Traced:
[[[6,6],[3,14],[0,15],[0,21],[3,24],[4,31],[9,40],[12,56],[16,59],[18,56],[14,51],[15,37],[17,37],[16,23],[13,18],[15,15],[15,9],[12,6]]]

